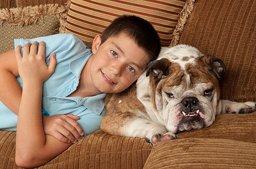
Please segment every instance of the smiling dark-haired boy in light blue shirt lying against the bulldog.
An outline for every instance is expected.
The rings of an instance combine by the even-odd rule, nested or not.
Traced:
[[[36,41],[45,42],[40,42],[38,52]],[[15,46],[15,51],[0,56],[0,90],[5,91],[0,92],[5,104],[0,106],[0,128],[17,128],[15,159],[21,167],[40,166],[72,144],[44,132],[53,115],[78,115],[83,131],[75,129],[80,135],[98,130],[106,93],[129,87],[160,52],[155,29],[136,16],[114,20],[101,36],[96,35],[92,50],[71,34],[19,39]],[[44,122],[41,109],[49,113]],[[17,127],[12,112],[19,114]]]

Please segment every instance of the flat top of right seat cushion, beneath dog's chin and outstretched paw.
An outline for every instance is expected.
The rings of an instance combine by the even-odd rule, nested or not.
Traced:
[[[256,112],[251,114],[219,114],[207,128],[177,134],[180,139],[231,139],[256,143]],[[255,159],[256,160],[256,159]]]

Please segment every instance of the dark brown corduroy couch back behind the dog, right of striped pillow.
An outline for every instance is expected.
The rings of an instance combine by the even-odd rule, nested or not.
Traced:
[[[254,0],[198,0],[184,26],[180,44],[224,61],[222,99],[256,101],[255,11]]]

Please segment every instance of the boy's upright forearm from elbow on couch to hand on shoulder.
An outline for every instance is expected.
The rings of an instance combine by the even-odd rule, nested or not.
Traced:
[[[24,46],[23,57],[20,55],[20,48],[17,47],[16,58],[23,80],[23,92],[19,107],[15,159],[18,166],[31,168],[50,161],[71,144],[61,143],[54,137],[45,135],[42,127],[42,84],[53,73],[56,60],[51,56],[49,66],[45,64],[42,43],[38,54],[36,42],[31,47],[29,44]]]

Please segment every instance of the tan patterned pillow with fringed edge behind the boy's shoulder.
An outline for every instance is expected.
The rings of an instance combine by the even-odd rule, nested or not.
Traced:
[[[65,14],[66,7],[58,5],[0,10],[0,54],[14,48],[15,38],[36,38],[59,33]]]

